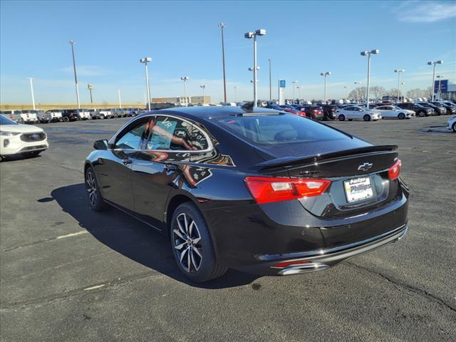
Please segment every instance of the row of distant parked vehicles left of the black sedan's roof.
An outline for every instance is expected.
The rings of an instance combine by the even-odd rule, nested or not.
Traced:
[[[110,109],[51,109],[51,110],[4,110],[0,112],[16,123],[51,123],[76,120],[112,119],[135,116],[142,113],[142,108]]]

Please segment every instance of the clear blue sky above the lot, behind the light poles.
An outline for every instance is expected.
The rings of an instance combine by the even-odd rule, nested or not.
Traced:
[[[437,73],[456,81],[455,1],[1,1],[1,103],[76,101],[71,47],[75,40],[81,102],[142,102],[141,57],[152,57],[152,97],[187,93],[222,100],[220,31],[224,22],[228,100],[252,98],[252,41],[244,33],[265,28],[258,39],[259,98],[273,95],[279,78],[302,86],[301,98],[322,98],[322,71],[331,71],[328,98],[366,84],[366,57],[373,56],[372,86],[397,87],[395,68],[404,68],[405,90],[432,83],[427,61],[442,59]]]

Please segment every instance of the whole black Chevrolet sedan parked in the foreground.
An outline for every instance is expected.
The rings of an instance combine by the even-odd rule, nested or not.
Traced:
[[[319,271],[407,232],[397,147],[299,115],[157,110],[93,145],[84,172],[90,207],[110,204],[165,234],[192,281],[227,268]]]

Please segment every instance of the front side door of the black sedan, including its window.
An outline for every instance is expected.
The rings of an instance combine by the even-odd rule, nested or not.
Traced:
[[[123,209],[135,209],[131,166],[144,138],[148,118],[135,120],[111,141],[110,149],[98,158],[95,170],[104,199]]]

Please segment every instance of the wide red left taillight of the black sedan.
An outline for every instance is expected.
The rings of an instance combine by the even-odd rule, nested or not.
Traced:
[[[293,179],[276,177],[246,177],[245,183],[258,204],[288,201],[321,195],[330,180]]]

